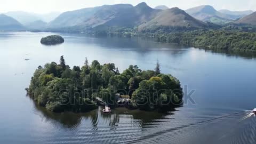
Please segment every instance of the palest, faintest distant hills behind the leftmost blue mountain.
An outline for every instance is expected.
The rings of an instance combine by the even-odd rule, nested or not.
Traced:
[[[38,20],[50,22],[55,18],[57,18],[60,13],[51,12],[46,14],[37,14],[37,13],[30,13],[30,12],[23,12],[23,11],[12,11],[4,14],[16,19],[17,21],[22,23],[22,25],[28,25],[29,23],[38,21]]]

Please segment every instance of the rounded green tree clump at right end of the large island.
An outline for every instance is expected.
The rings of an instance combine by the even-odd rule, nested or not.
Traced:
[[[135,105],[143,110],[173,108],[181,104],[182,97],[179,81],[164,74],[143,80],[132,94]]]

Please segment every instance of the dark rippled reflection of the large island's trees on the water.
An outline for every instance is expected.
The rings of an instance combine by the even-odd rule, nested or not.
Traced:
[[[159,112],[159,111],[142,111],[142,110],[130,110],[126,108],[116,108],[112,110],[111,114],[103,113],[102,107],[98,107],[96,110],[89,111],[87,113],[53,113],[46,110],[46,108],[38,106],[36,103],[35,114],[39,115],[43,121],[55,121],[60,123],[63,127],[74,129],[81,125],[82,119],[90,119],[91,125],[95,128],[98,125],[98,119],[109,121],[109,126],[118,126],[120,117],[127,116],[127,118],[138,119],[140,125],[154,122],[156,119],[163,119],[167,115],[172,115],[171,112]]]

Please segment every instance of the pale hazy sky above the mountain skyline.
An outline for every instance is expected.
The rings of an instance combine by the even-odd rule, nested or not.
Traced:
[[[70,11],[84,7],[100,6],[104,4],[129,3],[137,5],[146,2],[149,6],[166,5],[186,10],[198,5],[212,5],[215,9],[253,10],[256,11],[256,0],[0,0],[0,13],[7,11],[28,11],[47,13],[51,11]]]

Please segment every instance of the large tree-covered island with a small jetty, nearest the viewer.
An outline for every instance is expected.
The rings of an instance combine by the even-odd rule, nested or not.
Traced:
[[[182,105],[182,88],[177,78],[161,74],[157,61],[155,70],[141,70],[130,65],[119,73],[114,63],[100,65],[85,58],[80,68],[60,63],[38,66],[31,78],[28,95],[39,106],[54,112],[81,113],[104,103],[109,107],[141,110],[172,110]]]

